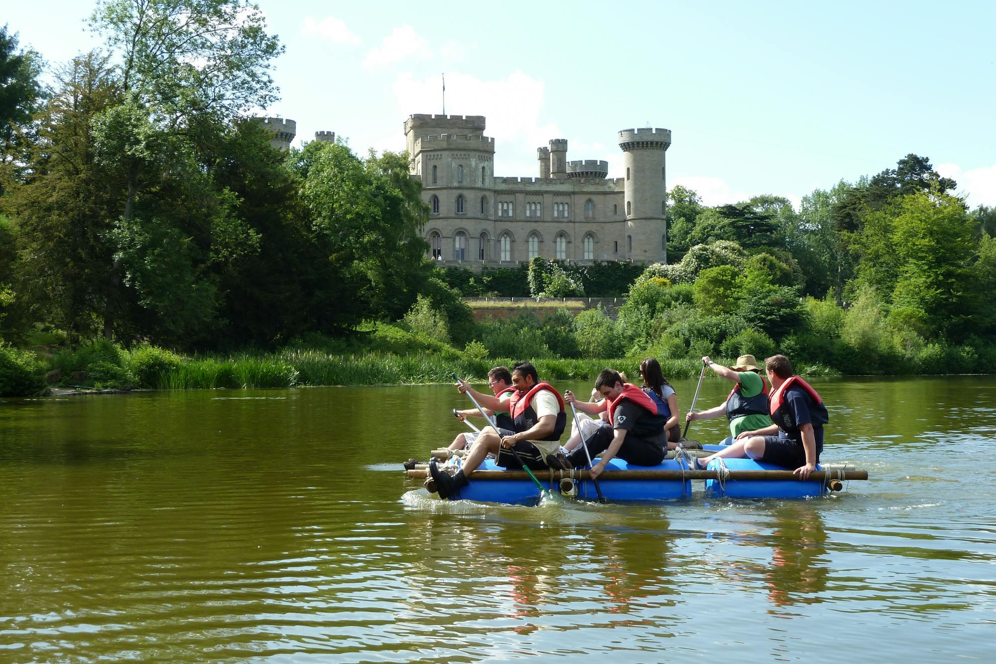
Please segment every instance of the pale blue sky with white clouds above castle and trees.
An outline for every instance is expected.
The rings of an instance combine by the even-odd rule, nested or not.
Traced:
[[[100,45],[86,0],[6,3],[53,65]],[[708,204],[798,201],[907,153],[996,205],[996,2],[259,2],[287,52],[272,115],[403,149],[412,113],[487,116],[499,175],[536,148],[609,161],[617,132],[673,133],[668,186]],[[470,9],[467,7],[470,6]]]

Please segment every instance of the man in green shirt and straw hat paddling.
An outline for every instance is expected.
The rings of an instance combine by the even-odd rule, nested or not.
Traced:
[[[724,367],[713,362],[708,356],[702,363],[720,378],[736,385],[726,398],[726,403],[701,413],[688,413],[685,420],[711,420],[725,415],[730,421],[730,435],[736,440],[741,432],[764,429],[771,426],[768,414],[768,390],[770,386],[761,376],[761,367],[753,355],[741,355],[732,367]]]

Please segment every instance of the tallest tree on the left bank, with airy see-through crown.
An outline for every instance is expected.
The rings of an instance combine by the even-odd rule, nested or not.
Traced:
[[[199,334],[212,317],[207,266],[256,244],[237,196],[205,174],[203,137],[275,100],[269,70],[282,47],[245,0],[105,0],[91,25],[119,59],[123,100],[95,121],[97,154],[122,200],[104,334],[138,316],[130,334],[161,320],[189,339],[184,328]]]

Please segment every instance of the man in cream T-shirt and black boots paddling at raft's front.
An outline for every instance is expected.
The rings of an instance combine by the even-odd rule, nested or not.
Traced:
[[[481,465],[487,455],[496,456],[495,464],[503,468],[519,468],[516,457],[510,452],[514,447],[518,458],[530,469],[547,468],[547,457],[555,457],[560,450],[560,438],[567,426],[564,399],[548,383],[542,383],[529,362],[518,362],[512,367],[512,385],[515,391],[498,398],[472,390],[466,383],[458,383],[461,394],[470,393],[482,408],[505,411],[512,417],[513,430],[495,431],[485,427],[463,460],[456,475],[450,477],[440,469],[435,460],[429,462],[429,475],[435,481],[440,498],[449,498],[469,484],[467,476]]]

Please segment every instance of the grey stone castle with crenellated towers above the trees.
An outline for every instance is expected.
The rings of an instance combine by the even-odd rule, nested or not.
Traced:
[[[265,119],[272,145],[287,150],[294,121]],[[412,176],[429,206],[429,257],[472,269],[534,256],[666,262],[666,169],[671,133],[619,133],[625,175],[609,179],[607,162],[568,162],[564,139],[537,150],[538,177],[494,174],[494,139],[483,116],[413,115],[404,122]],[[331,138],[330,138],[331,135]],[[335,141],[330,132],[317,141]]]

